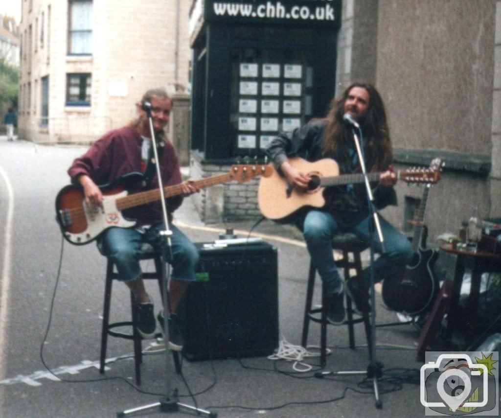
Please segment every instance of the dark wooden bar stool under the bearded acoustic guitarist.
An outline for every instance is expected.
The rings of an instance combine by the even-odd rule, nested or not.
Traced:
[[[346,281],[350,278],[350,269],[355,269],[356,275],[362,274],[362,262],[360,259],[360,253],[367,249],[367,246],[359,241],[359,239],[354,234],[339,234],[334,236],[332,240],[332,249],[341,251],[342,258],[336,260],[336,266],[340,269],[344,269],[344,280]],[[350,261],[350,255],[353,259]],[[303,335],[301,340],[301,345],[306,348],[308,343],[308,331],[310,327],[310,321],[318,322],[321,325],[320,329],[320,364],[321,367],[326,365],[327,357],[327,325],[329,324],[327,320],[327,292],[325,286],[322,285],[322,306],[319,308],[312,308],[313,301],[313,290],[315,288],[315,277],[317,275],[317,269],[310,260],[310,270],[308,274],[308,287],[306,291],[306,306],[305,315],[303,320]],[[356,323],[363,322],[365,325],[365,333],[367,336],[367,342],[370,341],[370,321],[369,314],[366,312],[361,318],[353,318],[353,308],[352,300],[350,296],[346,294],[346,314],[347,321],[345,324],[348,326],[348,336],[350,341],[350,348],[355,348],[355,334],[353,331],[353,325]],[[319,314],[320,313],[320,317]],[[371,346],[369,344],[369,349]]]

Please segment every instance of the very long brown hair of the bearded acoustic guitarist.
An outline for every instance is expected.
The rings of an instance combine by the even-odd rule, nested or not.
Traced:
[[[350,90],[361,87],[369,93],[369,107],[363,122],[364,143],[368,151],[366,161],[369,171],[383,171],[393,161],[393,149],[390,132],[386,120],[384,103],[376,88],[369,83],[353,83],[348,86],[339,98],[331,101],[329,112],[324,120],[327,126],[324,130],[322,151],[324,155],[334,155],[347,148],[348,141],[353,141],[351,129],[343,121],[344,104]]]

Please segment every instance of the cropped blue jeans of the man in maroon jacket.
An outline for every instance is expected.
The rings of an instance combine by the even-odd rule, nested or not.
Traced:
[[[134,228],[110,228],[100,240],[101,252],[111,258],[117,266],[118,279],[124,282],[136,280],[141,276],[140,256],[141,245],[150,244],[158,254],[161,254],[165,238],[158,232],[164,230],[163,224],[155,225],[144,233]],[[172,252],[165,251],[165,260],[172,266],[171,277],[177,280],[195,280],[195,268],[198,263],[198,251],[193,243],[174,225],[172,231]]]

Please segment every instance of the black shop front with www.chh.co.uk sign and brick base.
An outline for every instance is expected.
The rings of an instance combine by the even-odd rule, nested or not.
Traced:
[[[193,3],[193,178],[263,161],[279,131],[325,115],[334,93],[340,13],[340,0]],[[257,181],[204,190],[196,203],[202,220],[259,215]]]

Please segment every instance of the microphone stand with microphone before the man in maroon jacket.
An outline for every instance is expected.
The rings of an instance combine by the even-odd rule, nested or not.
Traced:
[[[177,396],[177,388],[173,388],[171,384],[171,376],[174,375],[173,370],[172,370],[172,363],[170,361],[170,356],[169,356],[169,321],[168,321],[168,316],[167,313],[169,312],[168,307],[169,307],[169,301],[168,301],[168,293],[167,293],[167,271],[165,268],[165,254],[166,250],[169,251],[171,257],[170,259],[172,260],[172,241],[171,241],[171,236],[172,236],[172,231],[169,229],[169,220],[167,216],[167,207],[165,205],[165,192],[163,189],[163,182],[162,182],[162,176],[160,172],[160,161],[158,160],[158,152],[157,152],[157,143],[155,139],[155,132],[153,129],[153,120],[151,117],[151,103],[149,102],[143,102],[142,103],[142,108],[146,112],[146,115],[148,116],[148,121],[149,121],[149,126],[150,126],[150,135],[151,135],[151,146],[153,147],[153,155],[155,158],[155,166],[156,166],[156,174],[158,178],[158,187],[160,189],[160,201],[162,203],[162,215],[163,215],[163,223],[165,226],[165,230],[160,231],[159,235],[164,237],[165,240],[163,244],[166,244],[166,248],[162,248],[161,254],[160,254],[160,264],[162,266],[161,268],[161,273],[162,273],[162,300],[163,300],[163,314],[164,314],[164,321],[163,321],[163,335],[164,335],[164,343],[165,343],[165,374],[166,374],[166,379],[165,379],[165,393],[166,396],[161,398],[158,402],[150,403],[147,405],[143,406],[138,406],[135,408],[127,409],[123,412],[117,412],[117,416],[126,416],[131,413],[135,412],[144,412],[149,409],[153,409],[156,407],[159,407],[162,412],[176,412],[179,410],[179,408],[186,409],[187,411],[190,412],[196,412],[198,415],[204,414],[209,417],[216,417],[217,413],[210,412],[205,409],[200,409],[195,406],[187,405],[184,403],[178,402],[178,396]]]

